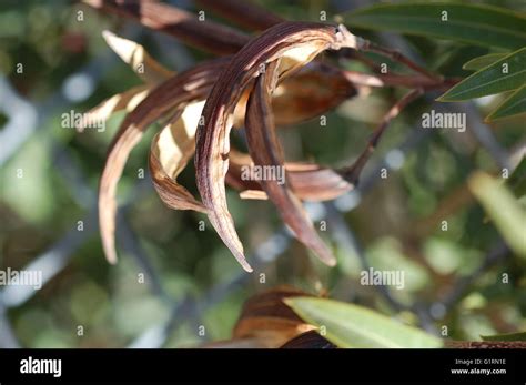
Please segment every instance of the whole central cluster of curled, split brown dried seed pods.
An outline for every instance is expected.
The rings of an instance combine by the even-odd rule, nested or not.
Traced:
[[[334,199],[353,185],[331,169],[285,162],[274,131],[275,125],[311,119],[355,94],[353,84],[337,69],[312,62],[326,49],[354,47],[354,36],[344,27],[284,22],[251,40],[234,57],[206,61],[179,74],[156,63],[134,42],[110,32],[104,32],[104,38],[133,69],[139,60],[149,71],[138,73],[144,85],[92,110],[104,118],[120,109],[131,111],[110,145],[99,189],[100,231],[111,263],[117,261],[118,182],[145,130],[163,122],[152,140],[149,166],[155,191],[169,207],[206,213],[234,256],[251,271],[224,200],[226,182],[240,190],[242,197],[270,197],[297,239],[325,263],[334,264],[301,200]],[[229,132],[234,125],[245,125],[250,155],[232,150],[229,169]],[[202,202],[176,181],[195,151]],[[242,168],[257,165],[284,168],[287,183],[281,186],[241,178]]]

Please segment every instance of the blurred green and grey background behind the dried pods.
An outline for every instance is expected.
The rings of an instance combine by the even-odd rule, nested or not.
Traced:
[[[191,1],[166,2],[200,9]],[[321,10],[331,19],[374,2],[257,3],[291,20],[318,20]],[[307,205],[318,227],[326,225],[321,233],[337,255],[334,269],[291,240],[271,203],[243,201],[229,191],[236,227],[256,266],[255,273],[244,273],[203,215],[171,211],[155,194],[146,163],[155,126],[133,151],[119,184],[120,261],[109,265],[98,233],[95,193],[105,151],[124,114],[112,115],[105,132],[79,134],[61,126],[62,113],[88,111],[140,84],[105,44],[103,30],[140,42],[174,71],[209,58],[172,37],[75,2],[0,2],[0,270],[42,270],[45,281],[40,291],[2,287],[1,347],[199,346],[229,338],[243,302],[280,284],[362,304],[431,333],[446,325],[455,340],[526,328],[524,263],[503,243],[466,185],[475,170],[498,174],[524,153],[524,118],[483,123],[498,97],[439,104],[437,93],[428,94],[393,122],[356,191]],[[462,64],[487,52],[395,33],[355,33],[449,77],[466,77]],[[18,63],[23,73],[17,73]],[[364,70],[348,61],[341,65]],[[281,130],[287,159],[348,164],[403,92],[374,90],[328,113],[326,126],[314,120]],[[432,108],[466,113],[466,132],[423,130],[422,113]],[[20,169],[23,178],[17,176]],[[140,169],[144,179],[138,178]],[[193,164],[181,181],[196,193]],[[202,220],[204,232],[199,231]],[[360,285],[360,272],[368,266],[404,270],[406,290]],[[509,283],[502,283],[503,273]]]

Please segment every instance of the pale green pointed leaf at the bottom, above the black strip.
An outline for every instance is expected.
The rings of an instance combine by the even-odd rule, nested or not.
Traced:
[[[366,307],[343,302],[292,297],[292,310],[340,347],[441,347],[443,341]]]

